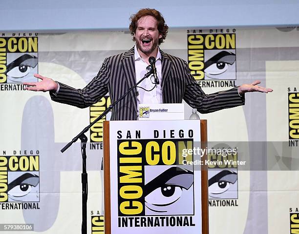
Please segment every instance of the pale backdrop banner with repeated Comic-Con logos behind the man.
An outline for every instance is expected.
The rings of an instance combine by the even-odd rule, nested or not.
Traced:
[[[133,47],[131,39],[122,31],[1,33],[1,224],[80,232],[80,142],[64,154],[60,149],[107,109],[110,98],[107,94],[79,109],[51,101],[48,93],[25,91],[21,82],[37,81],[33,74],[39,73],[83,88],[106,57]],[[185,59],[207,94],[256,79],[274,89],[246,94],[245,106],[200,115],[208,119],[215,148],[236,149],[245,142],[250,156],[249,170],[238,163],[209,165],[210,233],[298,233],[299,28],[171,30],[160,49]],[[188,119],[191,107],[185,111]],[[88,233],[101,233],[104,226],[102,140],[103,121],[109,118],[87,133]],[[237,162],[239,156],[227,157]],[[209,155],[211,161],[224,157],[223,152]]]

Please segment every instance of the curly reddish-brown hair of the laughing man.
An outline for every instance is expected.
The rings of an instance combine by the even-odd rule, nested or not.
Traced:
[[[160,38],[159,42],[158,42],[158,44],[160,45],[166,39],[166,35],[168,33],[168,26],[165,23],[165,20],[164,20],[162,14],[160,12],[158,12],[157,10],[150,9],[150,8],[141,9],[136,14],[131,15],[131,17],[130,17],[131,23],[129,26],[129,30],[130,30],[131,35],[133,36],[133,41],[135,41],[134,34],[137,29],[137,21],[145,16],[152,16],[157,20],[158,31],[159,31],[159,34],[162,35],[162,38]]]

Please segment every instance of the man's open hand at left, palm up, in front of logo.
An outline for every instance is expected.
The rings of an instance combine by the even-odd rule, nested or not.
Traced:
[[[26,90],[32,90],[32,91],[53,91],[56,92],[58,89],[58,84],[51,78],[43,77],[39,74],[33,75],[36,78],[41,79],[40,82],[24,82],[25,85],[30,85],[29,87],[26,87]]]

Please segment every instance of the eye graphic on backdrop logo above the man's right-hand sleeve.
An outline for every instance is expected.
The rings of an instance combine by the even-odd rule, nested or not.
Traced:
[[[228,71],[234,63],[234,53],[221,51],[205,62],[205,76],[213,79],[219,78],[219,75]]]

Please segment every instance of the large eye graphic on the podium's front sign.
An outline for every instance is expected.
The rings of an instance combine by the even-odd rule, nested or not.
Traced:
[[[168,208],[182,198],[192,184],[192,171],[171,167],[146,184],[146,207],[152,212],[168,212]]]

